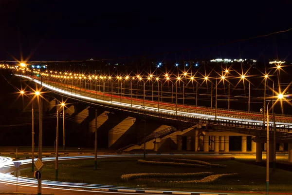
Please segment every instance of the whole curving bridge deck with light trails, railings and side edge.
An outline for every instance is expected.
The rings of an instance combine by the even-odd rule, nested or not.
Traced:
[[[80,81],[76,79],[76,82],[59,82],[59,80],[50,77],[16,76],[42,84],[43,88],[65,97],[125,112],[196,124],[224,125],[249,129],[263,128],[263,115],[256,112],[167,103],[159,101],[160,98],[158,98],[158,101],[150,100],[145,95],[145,83],[143,89],[139,89],[142,93],[138,94],[138,89],[133,89],[131,83],[129,89],[126,89],[128,93],[125,93],[125,88],[123,92],[122,83],[115,83],[118,84],[115,87],[113,82],[110,82],[110,86],[108,85],[106,88],[105,82],[97,85],[97,82],[93,81],[93,79],[92,82],[88,80],[81,83],[81,79],[79,79]],[[133,92],[136,92],[136,94]],[[159,96],[159,91],[154,93]],[[142,98],[137,98],[141,96]],[[175,98],[175,102],[177,102],[177,96]],[[271,116],[269,123],[271,129],[274,127],[273,121],[274,118]],[[276,130],[289,132],[292,130],[292,116],[275,115],[275,124]]]

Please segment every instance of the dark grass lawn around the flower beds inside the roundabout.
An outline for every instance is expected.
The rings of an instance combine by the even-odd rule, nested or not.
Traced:
[[[169,157],[168,157],[169,158]],[[176,156],[176,158],[179,158]],[[232,159],[214,159],[204,157],[181,157],[184,159],[205,160],[206,162],[226,165],[222,167],[184,167],[184,166],[165,166],[156,164],[139,163],[141,157],[118,157],[103,158],[98,160],[98,169],[93,170],[93,159],[85,160],[60,160],[58,167],[58,181],[94,183],[105,185],[120,185],[128,187],[157,187],[184,190],[223,190],[223,191],[265,191],[266,168],[254,164],[248,164]],[[147,157],[147,160],[167,161],[167,157]],[[272,171],[272,169],[271,169]],[[214,174],[232,174],[237,176],[220,178],[208,184],[188,184],[188,183],[164,183],[145,180],[123,181],[121,176],[124,174],[140,173],[199,173],[213,172]],[[21,171],[22,176],[33,177],[29,169]],[[42,168],[42,178],[45,180],[55,180],[55,162],[46,163]],[[292,191],[292,172],[277,169],[270,175],[270,191],[291,192]],[[160,178],[165,180],[167,178]],[[190,178],[178,177],[176,180],[190,180]]]

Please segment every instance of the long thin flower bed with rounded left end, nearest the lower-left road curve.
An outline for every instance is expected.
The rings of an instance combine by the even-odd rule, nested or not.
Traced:
[[[185,173],[185,174],[155,174],[155,173],[141,173],[141,174],[125,174],[121,176],[123,181],[137,178],[157,178],[157,177],[194,177],[194,176],[209,176],[212,172],[200,172],[200,173]]]

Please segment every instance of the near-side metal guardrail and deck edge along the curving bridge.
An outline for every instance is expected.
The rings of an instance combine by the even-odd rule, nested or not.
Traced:
[[[55,94],[59,94],[61,96],[66,96],[62,93],[57,93],[54,92]],[[73,98],[70,96],[66,96],[68,98]],[[249,121],[238,121],[238,120],[227,120],[227,119],[214,119],[214,118],[208,118],[208,117],[197,117],[197,116],[189,116],[187,114],[174,114],[174,113],[166,113],[166,112],[158,112],[156,110],[148,110],[143,107],[141,108],[134,108],[134,107],[128,107],[124,105],[114,105],[111,104],[110,102],[96,102],[96,101],[90,101],[90,100],[81,100],[78,98],[74,98],[78,101],[93,104],[93,105],[101,105],[103,107],[107,107],[109,109],[115,109],[115,110],[120,110],[124,112],[130,112],[130,113],[135,113],[139,115],[147,115],[147,116],[152,116],[152,117],[163,117],[166,119],[172,119],[172,120],[181,120],[185,122],[192,122],[195,124],[216,124],[216,125],[225,125],[225,126],[234,126],[234,127],[241,127],[241,128],[252,128],[252,129],[263,129],[263,124],[259,122],[249,122]],[[189,111],[187,111],[189,112]],[[201,111],[196,111],[196,113],[199,114],[206,114],[206,112],[201,112]],[[250,119],[250,118],[245,118],[242,117],[240,113],[238,113],[237,118],[242,118],[242,119]],[[228,116],[230,117],[230,116]],[[254,119],[254,118],[252,118]],[[257,118],[257,120],[262,120],[262,118]],[[273,127],[273,123],[269,124],[269,127]],[[276,130],[278,131],[288,131],[292,129],[292,124],[291,125],[276,125]],[[272,128],[271,128],[272,130]]]

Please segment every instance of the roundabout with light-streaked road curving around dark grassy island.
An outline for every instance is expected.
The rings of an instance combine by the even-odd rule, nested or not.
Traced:
[[[59,171],[62,173],[62,168],[65,169],[67,166],[66,173],[68,173],[68,168],[77,170],[77,175],[82,172],[85,174],[93,173],[93,158],[94,156],[60,156],[59,163],[64,162],[64,166],[60,166]],[[261,179],[261,176],[255,174],[260,173],[263,167],[240,161],[242,156],[234,159],[222,155],[149,154],[146,156],[146,160],[142,158],[142,154],[99,155],[96,174],[91,174],[90,177],[93,177],[91,180],[87,180],[85,177],[83,182],[78,180],[78,177],[84,176],[81,174],[76,176],[74,173],[69,173],[64,178],[60,174],[60,181],[52,181],[48,175],[52,170],[54,171],[54,166],[51,164],[54,164],[52,161],[55,161],[55,158],[43,158],[45,164],[43,167],[45,169],[42,170],[43,192],[54,192],[55,195],[68,192],[70,194],[196,195],[212,192],[212,194],[230,195],[238,194],[238,191],[247,191],[240,194],[250,194],[251,191],[260,193],[261,191],[261,185],[259,185],[261,181],[257,181]],[[30,191],[27,190],[27,192],[36,192],[37,179],[30,178],[31,176],[28,174],[33,174],[28,169],[31,159],[19,161],[21,161],[21,176],[18,177],[18,189],[30,187]],[[88,166],[89,164],[91,167]],[[127,169],[125,165],[128,166]],[[12,159],[1,157],[0,167],[2,172],[0,173],[0,184],[5,185],[6,188],[10,187],[10,192],[15,191],[16,177],[10,174],[14,171]],[[246,169],[244,170],[244,168]],[[284,170],[277,170],[277,174],[282,174],[282,176],[286,174],[284,176],[287,177],[292,176],[290,172]],[[252,175],[254,176],[251,177]],[[246,178],[247,176],[250,177]],[[108,180],[105,179],[107,177]],[[285,187],[283,193],[285,189],[289,191]]]

